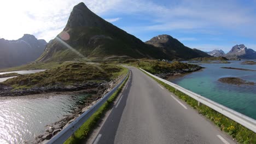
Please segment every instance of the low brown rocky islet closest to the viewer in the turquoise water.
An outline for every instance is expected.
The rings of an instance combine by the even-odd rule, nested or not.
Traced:
[[[218,81],[231,85],[254,85],[254,82],[242,80],[238,77],[223,77],[220,78]]]

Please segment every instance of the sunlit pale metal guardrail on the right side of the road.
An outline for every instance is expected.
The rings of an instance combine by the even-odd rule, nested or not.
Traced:
[[[148,75],[155,77],[155,79],[158,79],[158,80],[166,83],[167,85],[170,85],[171,87],[177,89],[178,91],[181,91],[181,92],[187,94],[189,97],[197,100],[199,103],[202,103],[202,104],[210,107],[211,109],[213,109],[219,113],[222,113],[222,115],[232,119],[233,121],[243,125],[243,127],[246,127],[248,129],[252,130],[254,133],[256,133],[256,120],[255,119],[245,116],[242,113],[239,113],[237,111],[231,110],[226,106],[220,105],[210,99],[202,97],[201,95],[191,92],[188,89],[178,86],[170,81],[161,79],[158,76],[148,73],[148,71],[146,71],[146,70],[143,70],[143,69],[141,69],[141,70],[144,71],[145,73],[147,73]]]

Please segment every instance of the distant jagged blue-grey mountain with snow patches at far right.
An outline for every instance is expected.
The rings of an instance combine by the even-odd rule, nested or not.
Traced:
[[[224,57],[228,59],[256,59],[256,52],[241,44],[233,46]]]

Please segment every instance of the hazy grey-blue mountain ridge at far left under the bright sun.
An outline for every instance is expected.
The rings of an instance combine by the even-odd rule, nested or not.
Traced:
[[[14,67],[35,61],[44,52],[46,41],[24,34],[18,40],[0,39],[0,68]]]

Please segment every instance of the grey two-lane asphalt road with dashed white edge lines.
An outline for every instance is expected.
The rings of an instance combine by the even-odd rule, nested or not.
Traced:
[[[130,80],[93,143],[235,143],[142,71],[129,69]]]

